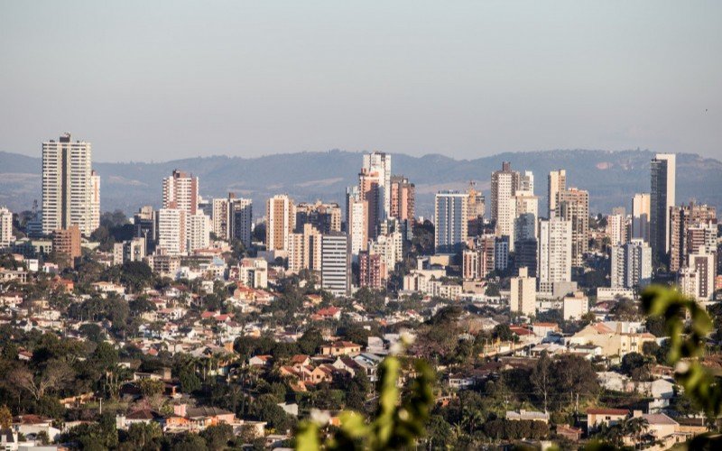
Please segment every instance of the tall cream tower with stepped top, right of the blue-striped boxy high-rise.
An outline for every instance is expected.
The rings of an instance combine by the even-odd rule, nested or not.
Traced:
[[[519,172],[512,170],[511,163],[504,161],[502,170],[495,170],[491,174],[491,218],[496,221],[496,236],[509,237],[510,251],[514,251],[514,195],[517,189]]]

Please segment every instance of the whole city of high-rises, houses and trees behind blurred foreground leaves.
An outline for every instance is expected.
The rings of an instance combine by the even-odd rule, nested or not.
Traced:
[[[70,144],[87,152],[75,177],[99,189],[89,143],[69,135],[43,143],[43,167]],[[653,180],[673,156],[653,161]],[[278,195],[255,216],[249,199],[203,198],[197,177],[174,170],[160,209],[69,205],[82,230],[52,213],[63,196],[4,210],[2,446],[298,446],[304,421],[373,416],[390,355],[402,387],[414,361],[435,374],[415,442],[429,449],[666,449],[717,428],[675,380],[663,318],[639,302],[653,282],[678,284],[722,321],[714,207],[670,207],[684,220],[666,223],[677,227],[666,253],[650,247],[665,223],[648,221],[649,195],[631,215],[594,215],[556,170],[542,218],[532,172],[505,162],[491,208],[472,184],[441,191],[431,220],[414,214],[391,155],[362,162],[345,207]]]

